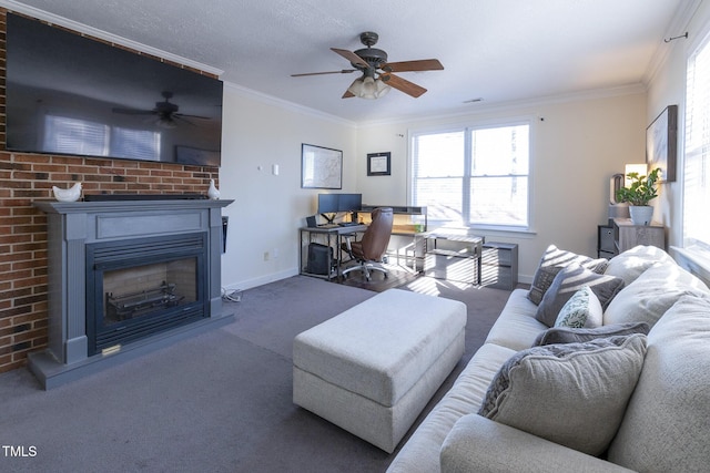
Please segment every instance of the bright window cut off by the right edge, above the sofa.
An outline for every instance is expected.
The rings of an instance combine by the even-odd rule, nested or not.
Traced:
[[[688,59],[683,247],[710,255],[710,37]]]

